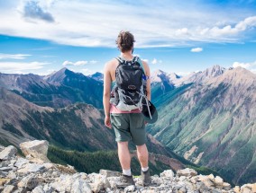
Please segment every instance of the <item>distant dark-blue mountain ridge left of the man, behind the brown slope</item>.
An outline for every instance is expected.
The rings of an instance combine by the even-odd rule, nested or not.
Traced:
[[[0,86],[40,106],[63,108],[80,101],[103,108],[103,83],[67,68],[46,76],[0,74]]]

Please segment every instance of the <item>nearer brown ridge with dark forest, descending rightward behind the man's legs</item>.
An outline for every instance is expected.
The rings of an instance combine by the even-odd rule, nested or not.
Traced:
[[[153,173],[159,173],[168,168],[177,171],[187,165],[201,170],[197,165],[187,162],[170,151],[168,147],[161,145],[151,135],[147,138]],[[26,101],[15,92],[0,87],[0,144],[18,147],[19,144],[34,139],[48,140],[50,145],[53,145],[50,149],[50,159],[54,162],[65,162],[77,168],[84,168],[88,160],[82,161],[77,158],[79,151],[81,156],[89,156],[89,160],[99,159],[97,163],[100,165],[96,165],[95,170],[105,164],[105,156],[110,156],[109,159],[114,156],[114,164],[110,164],[108,169],[111,169],[113,165],[118,165],[117,154],[113,153],[116,150],[114,130],[104,126],[103,110],[82,102],[59,109],[41,107]],[[132,144],[131,149],[135,149]],[[82,154],[96,151],[104,152]],[[139,174],[139,163],[134,162],[134,164],[136,164],[136,173]],[[87,167],[85,168],[87,170]],[[205,169],[204,171],[213,172]]]

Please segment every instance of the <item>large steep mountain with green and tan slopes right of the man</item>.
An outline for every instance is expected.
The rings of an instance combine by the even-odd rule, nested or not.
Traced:
[[[150,133],[191,162],[233,183],[256,180],[256,75],[213,66],[156,100]]]

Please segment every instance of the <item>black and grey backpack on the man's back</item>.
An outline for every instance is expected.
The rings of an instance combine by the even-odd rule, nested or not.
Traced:
[[[119,110],[142,109],[142,99],[146,96],[146,75],[141,59],[116,59],[119,65],[115,70],[114,105]]]

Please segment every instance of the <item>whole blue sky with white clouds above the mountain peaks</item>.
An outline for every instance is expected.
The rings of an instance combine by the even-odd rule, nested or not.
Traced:
[[[256,73],[256,0],[0,0],[0,19],[1,73],[102,72],[121,30],[151,71]]]

